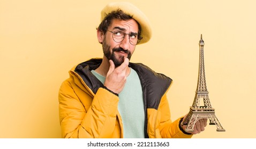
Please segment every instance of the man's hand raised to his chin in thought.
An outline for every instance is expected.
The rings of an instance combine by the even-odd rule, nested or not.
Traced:
[[[109,60],[109,71],[104,82],[104,86],[112,92],[119,94],[126,82],[126,70],[129,64],[129,59],[124,58],[124,62],[117,68],[112,60]]]

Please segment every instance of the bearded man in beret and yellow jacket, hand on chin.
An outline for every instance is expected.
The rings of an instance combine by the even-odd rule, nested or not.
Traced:
[[[63,138],[191,138],[206,126],[195,123],[187,133],[170,119],[167,92],[172,80],[144,64],[129,62],[136,45],[151,38],[146,16],[127,2],[110,3],[101,12],[97,40],[103,58],[70,70],[59,89]]]

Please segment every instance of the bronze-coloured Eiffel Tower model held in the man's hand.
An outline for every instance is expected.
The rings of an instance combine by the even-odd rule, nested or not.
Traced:
[[[182,125],[187,125],[185,129],[187,132],[192,132],[195,122],[203,118],[209,119],[209,125],[216,125],[217,131],[225,131],[217,119],[208,97],[209,92],[207,91],[205,79],[204,45],[205,43],[204,40],[202,40],[201,34],[201,39],[199,41],[200,53],[197,90],[195,91],[193,105],[190,106],[190,112],[182,123]],[[200,104],[201,100],[204,100],[204,104]]]

